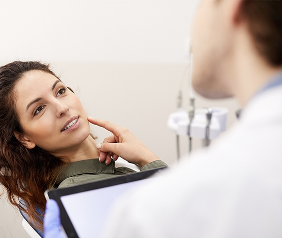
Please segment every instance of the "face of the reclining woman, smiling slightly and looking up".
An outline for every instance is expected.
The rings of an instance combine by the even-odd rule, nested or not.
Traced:
[[[35,145],[51,154],[64,154],[89,136],[87,114],[79,99],[50,73],[29,71],[16,84],[15,107],[27,148]]]

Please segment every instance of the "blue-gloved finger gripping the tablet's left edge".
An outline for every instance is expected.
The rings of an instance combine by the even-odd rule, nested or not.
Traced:
[[[60,230],[60,210],[55,200],[46,203],[44,216],[44,238],[65,238]]]

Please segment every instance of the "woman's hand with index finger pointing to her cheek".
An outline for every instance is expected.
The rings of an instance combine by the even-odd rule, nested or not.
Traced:
[[[108,165],[112,157],[116,161],[118,156],[120,156],[128,162],[142,167],[150,162],[160,160],[128,129],[92,117],[88,117],[88,121],[113,133],[112,136],[105,138],[102,144],[96,145],[100,150],[100,162],[105,161]]]

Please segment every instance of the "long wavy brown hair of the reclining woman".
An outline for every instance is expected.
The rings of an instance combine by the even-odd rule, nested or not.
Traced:
[[[10,203],[26,213],[35,228],[43,230],[44,191],[54,185],[63,163],[38,146],[27,149],[14,136],[15,131],[23,132],[15,109],[14,88],[31,70],[56,76],[49,65],[40,62],[15,61],[0,67],[0,183]]]

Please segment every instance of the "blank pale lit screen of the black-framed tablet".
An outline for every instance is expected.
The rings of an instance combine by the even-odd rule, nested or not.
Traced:
[[[62,205],[80,238],[99,237],[106,227],[106,217],[112,204],[127,190],[155,178],[61,196]]]

